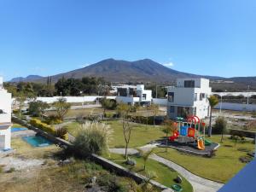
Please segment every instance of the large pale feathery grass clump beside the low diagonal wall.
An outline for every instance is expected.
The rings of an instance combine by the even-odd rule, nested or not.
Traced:
[[[109,125],[87,121],[79,128],[73,148],[82,157],[87,157],[89,154],[102,154],[108,148],[110,134]]]

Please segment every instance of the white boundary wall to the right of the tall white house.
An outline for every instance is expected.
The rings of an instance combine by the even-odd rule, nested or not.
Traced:
[[[215,107],[217,109],[220,108],[221,103]],[[230,102],[222,102],[222,109],[227,110],[235,110],[235,111],[256,111],[256,104],[241,104],[241,103],[230,103]]]

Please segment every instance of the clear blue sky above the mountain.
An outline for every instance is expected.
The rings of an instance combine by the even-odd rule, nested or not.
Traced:
[[[255,0],[0,0],[0,75],[149,58],[197,74],[255,76]]]

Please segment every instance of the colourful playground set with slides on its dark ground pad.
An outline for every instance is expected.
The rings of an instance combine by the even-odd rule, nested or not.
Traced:
[[[167,147],[179,151],[211,156],[212,151],[219,147],[218,143],[206,139],[206,124],[197,116],[189,116],[186,120],[177,118],[172,136],[169,137]],[[159,147],[166,147],[166,141],[161,140]]]

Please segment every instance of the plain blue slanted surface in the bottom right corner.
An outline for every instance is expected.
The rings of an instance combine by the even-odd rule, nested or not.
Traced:
[[[256,191],[256,160],[247,164],[218,192]]]

